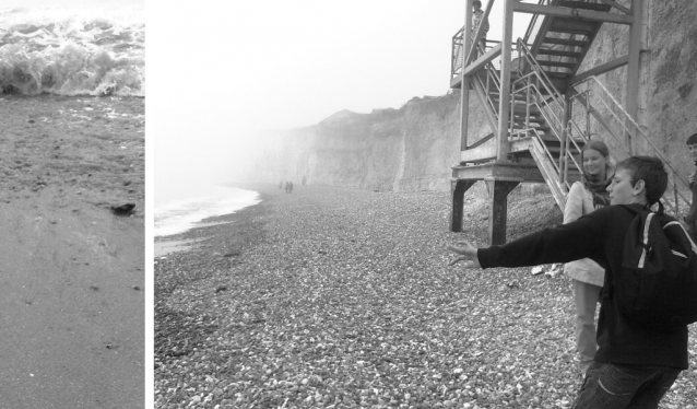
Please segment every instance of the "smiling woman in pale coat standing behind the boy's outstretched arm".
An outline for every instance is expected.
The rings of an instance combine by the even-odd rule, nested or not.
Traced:
[[[590,141],[581,151],[581,180],[571,185],[566,197],[564,224],[610,204],[607,186],[613,171],[607,145],[602,141]],[[565,264],[564,274],[572,282],[576,303],[576,349],[579,353],[579,369],[581,374],[586,374],[598,350],[595,309],[600,302],[605,269],[590,258],[582,258]]]

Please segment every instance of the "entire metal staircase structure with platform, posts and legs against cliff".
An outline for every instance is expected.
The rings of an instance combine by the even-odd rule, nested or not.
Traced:
[[[493,2],[488,0],[484,17]],[[680,209],[690,204],[687,180],[593,77],[627,65],[628,71],[634,70],[627,73],[627,98],[637,94],[640,37],[636,35],[639,31],[633,34],[633,30],[642,21],[641,0],[633,1],[631,10],[613,0],[537,0],[536,4],[533,0],[519,0],[507,1],[504,9],[505,43],[488,47],[496,42],[487,42],[486,49],[482,49],[481,27],[471,38],[469,33],[464,36],[464,27],[452,38],[450,86],[468,87],[461,94],[460,163],[452,167],[451,231],[462,227],[462,197],[477,180],[486,183],[492,200],[491,244],[506,241],[506,198],[520,183],[546,183],[564,209],[570,186],[581,177],[581,151],[594,139],[609,145],[615,162],[637,154],[659,156],[670,178],[662,201],[669,212],[680,218]],[[515,44],[513,12],[533,14],[524,37]],[[471,14],[468,12],[466,16]],[[629,54],[579,73],[605,22],[630,26]],[[477,47],[465,58],[464,38]],[[506,60],[500,60],[504,56]],[[511,72],[501,75],[497,58],[498,67],[510,67]],[[504,89],[504,83],[509,85]],[[472,93],[492,133],[468,143]],[[507,101],[510,105],[505,105]],[[627,100],[629,112],[637,108],[633,101]],[[507,118],[501,118],[501,110],[507,112]]]

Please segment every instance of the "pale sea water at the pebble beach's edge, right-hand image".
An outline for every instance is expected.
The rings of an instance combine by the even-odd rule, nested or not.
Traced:
[[[226,186],[198,186],[178,197],[155,201],[155,236],[184,233],[215,215],[234,213],[260,201],[259,194]]]

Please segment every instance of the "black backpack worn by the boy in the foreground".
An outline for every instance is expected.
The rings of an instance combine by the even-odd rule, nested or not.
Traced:
[[[697,245],[674,218],[641,204],[623,204],[635,213],[627,230],[623,270],[612,287],[619,312],[660,332],[697,322]]]

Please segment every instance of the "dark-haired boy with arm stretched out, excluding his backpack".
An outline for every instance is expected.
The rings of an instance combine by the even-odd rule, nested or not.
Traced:
[[[607,187],[611,204],[651,206],[663,196],[668,173],[657,157],[631,156],[617,164]],[[606,206],[569,224],[527,235],[501,246],[448,246],[465,268],[523,267],[591,258],[605,269],[605,284],[623,273],[625,234],[635,213]],[[602,293],[601,293],[602,294]],[[628,322],[614,293],[601,295],[595,359],[572,408],[658,408],[682,370],[687,369],[687,326],[654,332]]]

